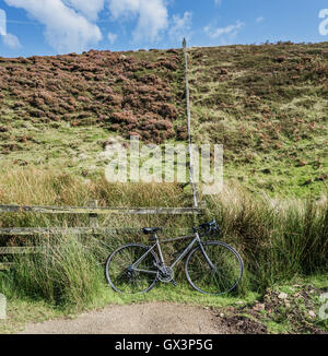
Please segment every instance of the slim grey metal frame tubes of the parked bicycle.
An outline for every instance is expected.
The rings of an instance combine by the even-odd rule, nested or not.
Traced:
[[[145,259],[145,257],[149,253],[151,253],[155,248],[157,248],[157,252],[159,252],[159,257],[160,257],[160,262],[164,266],[165,265],[165,260],[164,260],[164,257],[163,257],[163,253],[162,253],[161,242],[165,244],[165,242],[171,242],[171,241],[176,241],[176,240],[181,240],[181,239],[188,239],[188,238],[192,238],[192,237],[194,237],[194,240],[183,250],[183,252],[176,258],[176,260],[173,262],[173,264],[169,268],[171,269],[174,269],[180,262],[180,260],[183,260],[184,257],[192,249],[194,245],[198,242],[198,245],[200,246],[201,251],[202,251],[202,253],[203,253],[207,262],[209,263],[209,265],[211,266],[211,269],[214,269],[215,270],[215,266],[210,261],[209,257],[207,256],[207,253],[204,251],[204,248],[202,246],[202,242],[201,242],[201,239],[200,239],[200,236],[199,236],[198,233],[195,233],[195,235],[190,235],[190,236],[181,236],[181,237],[177,237],[177,238],[173,238],[173,239],[165,239],[165,240],[162,240],[161,242],[159,240],[159,236],[157,236],[156,233],[154,233],[153,236],[154,236],[156,242],[153,246],[151,246],[149,248],[149,250],[143,256],[141,256],[141,258],[137,262],[134,262],[131,265],[131,268],[134,271],[137,271],[137,272],[145,272],[145,273],[151,273],[151,274],[157,274],[159,271],[139,270],[138,269],[138,265]]]

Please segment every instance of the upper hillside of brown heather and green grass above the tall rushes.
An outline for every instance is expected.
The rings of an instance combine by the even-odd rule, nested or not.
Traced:
[[[328,43],[191,48],[195,142],[270,194],[327,188]],[[180,50],[0,58],[0,165],[90,177],[112,137],[186,140]]]

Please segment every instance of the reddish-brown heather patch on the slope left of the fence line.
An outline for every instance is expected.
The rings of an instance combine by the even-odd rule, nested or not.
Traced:
[[[5,143],[14,120],[97,126],[156,143],[174,138],[173,122],[179,112],[172,81],[180,66],[179,52],[163,51],[147,59],[141,55],[91,50],[0,58],[2,153],[19,150]]]

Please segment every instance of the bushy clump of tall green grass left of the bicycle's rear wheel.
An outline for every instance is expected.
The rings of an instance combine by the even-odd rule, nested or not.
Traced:
[[[74,236],[43,239],[38,246],[40,253],[16,259],[15,271],[7,280],[4,294],[17,293],[22,297],[78,309],[90,304],[102,286],[95,256]]]

